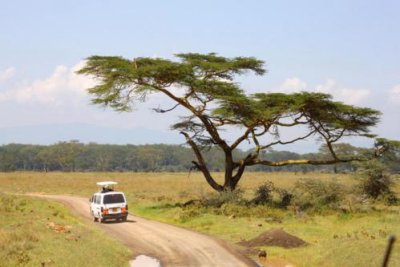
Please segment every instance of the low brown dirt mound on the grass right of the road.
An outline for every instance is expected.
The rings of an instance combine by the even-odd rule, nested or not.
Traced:
[[[283,248],[297,248],[306,246],[307,242],[281,229],[271,229],[260,234],[256,238],[241,241],[238,244],[246,247],[277,246]]]

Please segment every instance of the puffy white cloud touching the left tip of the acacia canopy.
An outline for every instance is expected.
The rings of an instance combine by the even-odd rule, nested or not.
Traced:
[[[84,98],[85,90],[94,85],[86,76],[75,71],[82,67],[80,62],[72,68],[59,65],[47,78],[0,93],[1,101],[14,101],[21,104],[70,105]]]

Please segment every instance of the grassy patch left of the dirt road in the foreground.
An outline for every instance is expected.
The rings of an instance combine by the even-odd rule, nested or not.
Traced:
[[[0,218],[0,266],[128,266],[128,249],[61,204],[0,193]]]

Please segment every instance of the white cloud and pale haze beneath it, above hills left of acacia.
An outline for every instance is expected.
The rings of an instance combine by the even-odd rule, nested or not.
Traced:
[[[174,114],[156,114],[152,108],[171,108],[173,104],[160,94],[149,95],[146,103],[135,103],[135,112],[117,113],[90,105],[87,88],[96,81],[77,75],[84,62],[68,67],[59,65],[50,75],[31,82],[7,85],[0,91],[0,113],[10,114],[0,119],[2,127],[52,123],[88,123],[120,128],[143,127],[168,129],[176,120]],[[178,90],[174,88],[173,90]],[[151,119],[149,119],[151,118]],[[154,119],[159,120],[154,124]]]

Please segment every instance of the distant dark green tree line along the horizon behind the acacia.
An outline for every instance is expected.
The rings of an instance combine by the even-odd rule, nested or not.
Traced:
[[[345,155],[363,153],[363,148],[338,144],[338,151]],[[243,158],[249,151],[238,150],[235,158]],[[204,151],[211,171],[224,170],[224,156],[217,149]],[[262,158],[271,161],[296,158],[323,158],[329,154],[325,147],[317,153],[298,154],[288,151],[264,151]],[[392,172],[400,172],[400,156],[390,155],[382,160]],[[0,171],[133,171],[133,172],[185,172],[195,160],[193,151],[182,145],[112,145],[59,142],[53,145],[7,144],[0,146]],[[252,166],[250,171],[291,172],[353,172],[356,163],[336,165],[287,165],[282,167]]]

